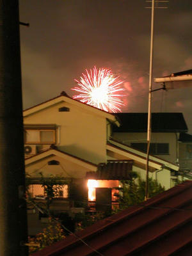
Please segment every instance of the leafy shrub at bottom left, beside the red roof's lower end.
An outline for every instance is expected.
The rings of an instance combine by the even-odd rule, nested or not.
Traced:
[[[34,253],[38,250],[42,250],[46,246],[60,241],[65,238],[63,228],[59,221],[53,221],[49,218],[49,225],[44,228],[42,233],[37,234],[35,237],[29,237],[29,243],[40,244],[40,247],[29,246],[29,253]]]

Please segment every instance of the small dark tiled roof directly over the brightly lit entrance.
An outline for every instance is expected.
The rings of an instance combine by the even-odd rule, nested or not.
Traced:
[[[87,172],[86,179],[96,180],[127,180],[132,171],[132,160],[110,160],[108,163],[100,163],[97,172]]]

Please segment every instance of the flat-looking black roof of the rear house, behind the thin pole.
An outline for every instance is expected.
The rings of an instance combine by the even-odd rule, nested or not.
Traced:
[[[147,132],[148,113],[117,113],[120,127],[113,132]],[[152,113],[152,132],[187,132],[182,113]]]

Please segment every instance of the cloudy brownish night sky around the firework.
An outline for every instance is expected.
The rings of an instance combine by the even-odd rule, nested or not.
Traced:
[[[127,89],[123,112],[147,112],[151,10],[144,0],[20,0],[24,109],[76,86],[85,68],[110,68]],[[159,4],[162,6],[162,4]],[[192,68],[192,1],[155,10],[154,77]],[[159,84],[153,84],[159,88]],[[191,88],[153,93],[152,112],[182,112]]]

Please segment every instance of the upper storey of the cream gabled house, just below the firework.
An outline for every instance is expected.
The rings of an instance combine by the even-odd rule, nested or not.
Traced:
[[[26,153],[37,154],[51,144],[59,150],[98,164],[106,161],[106,129],[115,116],[66,93],[24,110]],[[29,150],[29,151],[28,151]]]

